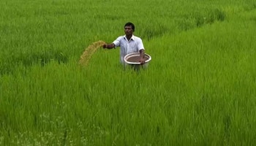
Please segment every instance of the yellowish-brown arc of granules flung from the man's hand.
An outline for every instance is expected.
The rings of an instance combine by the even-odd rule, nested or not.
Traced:
[[[102,47],[102,45],[104,44],[105,44],[104,41],[99,40],[97,42],[94,42],[92,45],[89,45],[89,47],[86,47],[86,49],[83,51],[83,54],[80,56],[79,64],[83,66],[88,65],[91,55],[93,55],[95,51],[99,47]]]

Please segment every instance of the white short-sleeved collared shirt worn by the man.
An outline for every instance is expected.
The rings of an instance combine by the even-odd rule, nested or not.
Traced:
[[[128,41],[127,37],[118,37],[113,44],[115,47],[120,48],[120,61],[124,64],[124,56],[129,53],[138,53],[140,50],[144,49],[143,42],[139,37],[132,35],[132,38]]]

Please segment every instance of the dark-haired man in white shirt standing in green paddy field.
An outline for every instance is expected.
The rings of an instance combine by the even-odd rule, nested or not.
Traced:
[[[129,53],[140,52],[140,64],[145,64],[144,59],[144,46],[139,37],[133,35],[135,31],[135,25],[132,23],[126,23],[124,25],[124,36],[118,37],[112,44],[105,44],[103,48],[112,49],[113,47],[120,47],[120,61],[124,64],[124,56]]]

